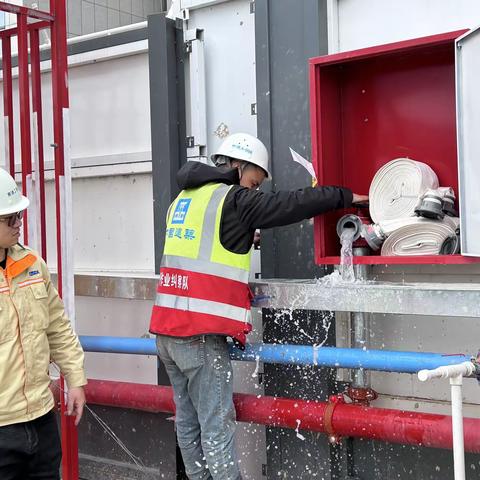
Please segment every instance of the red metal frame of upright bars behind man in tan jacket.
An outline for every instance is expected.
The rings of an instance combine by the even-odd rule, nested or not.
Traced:
[[[54,129],[54,157],[55,157],[55,187],[56,187],[56,225],[57,225],[57,263],[58,263],[58,290],[62,295],[62,226],[65,222],[62,210],[62,192],[65,189],[65,144],[64,144],[64,114],[68,109],[68,79],[67,79],[67,31],[65,0],[50,0],[50,12],[43,12],[31,8],[13,5],[0,1],[0,10],[17,16],[17,27],[8,28],[0,32],[2,41],[2,70],[4,117],[8,119],[8,167],[10,173],[15,174],[14,159],[14,128],[13,128],[13,91],[12,91],[12,62],[11,38],[18,38],[18,76],[20,102],[20,147],[22,163],[22,190],[27,194],[27,177],[32,174],[32,140],[30,128],[30,105],[36,113],[36,140],[38,149],[38,172],[36,181],[40,191],[40,241],[42,256],[46,257],[46,226],[45,226],[45,175],[43,157],[43,118],[40,75],[39,30],[51,30],[52,56],[52,109]],[[28,20],[36,20],[28,23]],[[30,40],[30,45],[29,45]],[[29,77],[29,46],[31,53],[32,103],[30,104],[30,77]],[[7,120],[6,120],[7,121]],[[68,146],[67,146],[68,147]],[[24,241],[28,242],[27,221],[24,221]],[[63,379],[62,379],[63,382]],[[78,480],[78,440],[74,420],[66,417],[65,402],[62,395],[62,478],[64,480]]]

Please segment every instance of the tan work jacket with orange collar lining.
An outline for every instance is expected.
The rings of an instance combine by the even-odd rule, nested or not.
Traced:
[[[49,412],[52,359],[69,388],[87,383],[84,355],[52,285],[45,262],[32,250],[8,249],[0,267],[0,426]]]

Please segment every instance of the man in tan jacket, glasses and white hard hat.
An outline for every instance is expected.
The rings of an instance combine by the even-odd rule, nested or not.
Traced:
[[[82,417],[84,355],[45,262],[18,241],[29,205],[0,168],[0,479],[59,480],[61,447],[50,359],[68,386],[67,414]]]

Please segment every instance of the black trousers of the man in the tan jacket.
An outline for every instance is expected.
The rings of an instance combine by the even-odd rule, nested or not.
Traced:
[[[53,411],[0,427],[1,480],[60,480],[62,450]]]

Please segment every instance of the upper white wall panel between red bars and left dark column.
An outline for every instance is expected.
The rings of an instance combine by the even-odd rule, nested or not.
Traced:
[[[71,68],[70,109],[73,158],[149,151],[148,55]]]

